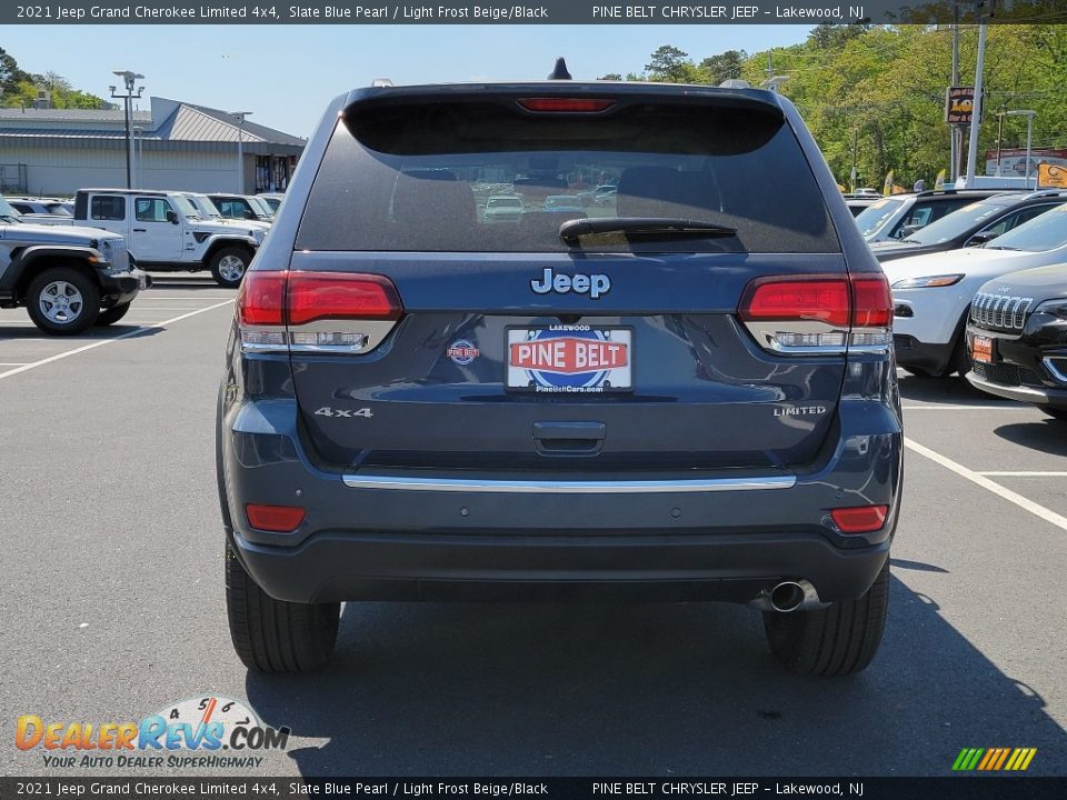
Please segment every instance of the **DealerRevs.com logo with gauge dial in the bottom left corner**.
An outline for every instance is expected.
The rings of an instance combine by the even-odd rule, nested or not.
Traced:
[[[289,728],[262,724],[239,700],[207,696],[171,703],[140,722],[18,718],[14,746],[53,768],[259,767],[257,753],[285,750]]]

